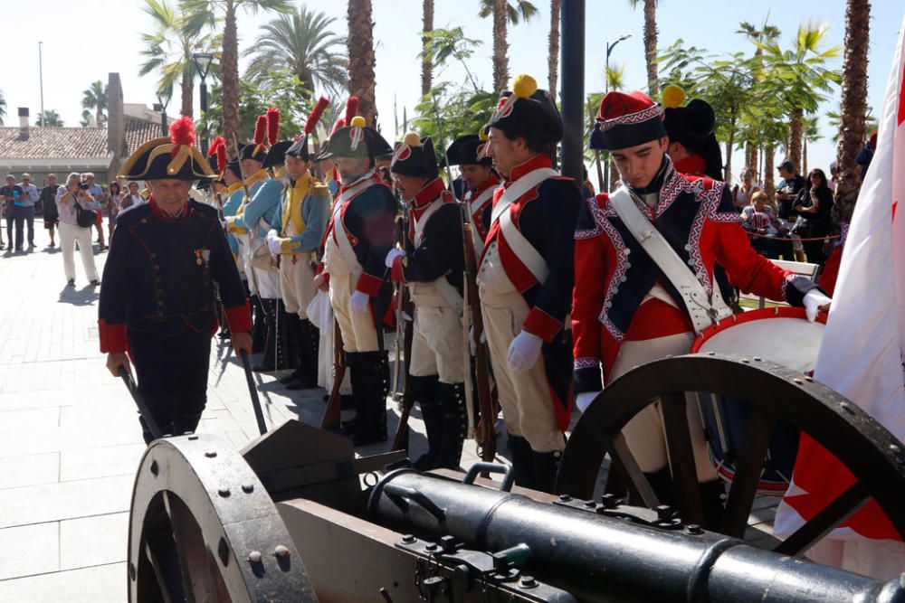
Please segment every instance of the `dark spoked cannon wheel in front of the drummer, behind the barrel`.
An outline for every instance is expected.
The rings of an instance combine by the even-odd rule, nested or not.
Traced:
[[[708,391],[750,404],[744,448],[738,452],[719,532],[743,538],[757,494],[770,435],[777,420],[791,423],[838,457],[858,481],[817,513],[775,551],[800,554],[871,499],[905,534],[905,450],[880,423],[837,391],[775,363],[709,353],[643,364],[607,385],[578,420],[557,474],[557,494],[591,498],[606,453],[623,469],[633,500],[658,503],[653,488],[621,435],[624,425],[661,400],[678,511],[703,524],[700,491],[685,414],[685,392]]]

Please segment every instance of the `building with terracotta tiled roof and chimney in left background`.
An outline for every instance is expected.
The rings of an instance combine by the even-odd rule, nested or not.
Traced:
[[[159,137],[161,127],[152,111],[139,110],[140,117],[127,113],[119,73],[110,73],[107,99],[107,127],[33,127],[28,108],[19,108],[19,127],[0,127],[0,177],[18,179],[29,172],[39,187],[51,173],[61,181],[70,172],[93,172],[100,183],[112,181],[119,165],[138,146]]]

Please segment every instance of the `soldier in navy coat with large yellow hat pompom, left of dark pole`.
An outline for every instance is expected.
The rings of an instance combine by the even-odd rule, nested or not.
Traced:
[[[551,492],[571,411],[575,224],[581,193],[553,168],[563,135],[548,91],[527,75],[505,91],[486,130],[506,181],[493,194],[477,281],[515,480]]]

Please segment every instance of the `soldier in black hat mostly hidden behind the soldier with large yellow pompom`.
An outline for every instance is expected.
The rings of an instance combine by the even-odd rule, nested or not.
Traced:
[[[493,161],[486,155],[486,145],[486,135],[466,134],[453,140],[446,149],[446,161],[449,165],[459,166],[465,183],[462,203],[467,204],[472,213],[474,251],[479,255],[484,250],[484,239],[491,228],[493,191],[500,185]]]

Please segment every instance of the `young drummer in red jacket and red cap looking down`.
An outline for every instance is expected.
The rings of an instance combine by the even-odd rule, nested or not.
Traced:
[[[666,155],[662,107],[641,92],[609,92],[596,121],[591,148],[610,152],[622,181],[614,193],[586,200],[575,233],[579,409],[634,366],[688,353],[696,333],[731,315],[714,286],[718,263],[742,291],[805,306],[814,319],[829,299],[810,280],[751,249],[729,188],[676,171]],[[671,261],[673,256],[678,258]],[[692,424],[697,421],[692,448],[704,513],[718,517],[723,486],[695,417],[690,413]],[[662,419],[654,406],[629,421],[623,435],[658,497],[672,500]]]

